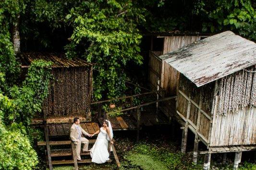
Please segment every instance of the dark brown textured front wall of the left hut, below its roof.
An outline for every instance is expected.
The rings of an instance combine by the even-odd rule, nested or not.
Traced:
[[[51,116],[79,116],[90,119],[90,68],[53,68],[54,80],[43,111]]]

